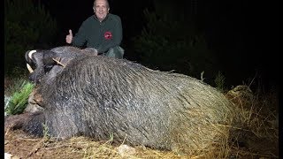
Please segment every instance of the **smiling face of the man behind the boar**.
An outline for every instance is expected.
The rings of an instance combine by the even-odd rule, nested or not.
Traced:
[[[108,5],[105,0],[96,0],[96,4],[94,6],[94,11],[96,12],[96,17],[103,21],[109,12]]]

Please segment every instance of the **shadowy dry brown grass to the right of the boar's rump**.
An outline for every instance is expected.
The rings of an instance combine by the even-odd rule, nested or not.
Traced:
[[[231,134],[231,147],[238,151],[239,155],[278,158],[278,93],[247,93],[245,89],[233,95],[231,92],[233,91],[230,90],[226,96],[233,102],[238,114],[238,126]]]

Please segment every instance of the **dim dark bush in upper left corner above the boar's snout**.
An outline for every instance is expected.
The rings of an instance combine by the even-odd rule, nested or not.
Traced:
[[[28,49],[50,46],[57,22],[42,4],[32,0],[4,0],[4,72],[24,68]]]

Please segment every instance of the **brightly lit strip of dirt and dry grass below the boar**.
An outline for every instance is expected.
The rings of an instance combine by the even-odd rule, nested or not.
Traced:
[[[85,137],[69,140],[49,140],[34,138],[20,130],[6,130],[4,136],[4,152],[19,158],[189,158],[188,155],[176,155],[169,151],[152,150],[136,147],[134,152],[120,152],[119,146],[111,145],[107,140],[94,141]]]

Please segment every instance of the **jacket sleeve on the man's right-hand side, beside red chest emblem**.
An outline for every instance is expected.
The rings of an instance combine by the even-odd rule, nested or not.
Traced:
[[[97,49],[98,53],[106,52],[108,49],[115,46],[119,46],[123,39],[122,23],[121,19],[117,17],[116,23],[113,26],[113,39],[111,42],[103,42],[102,45]]]

